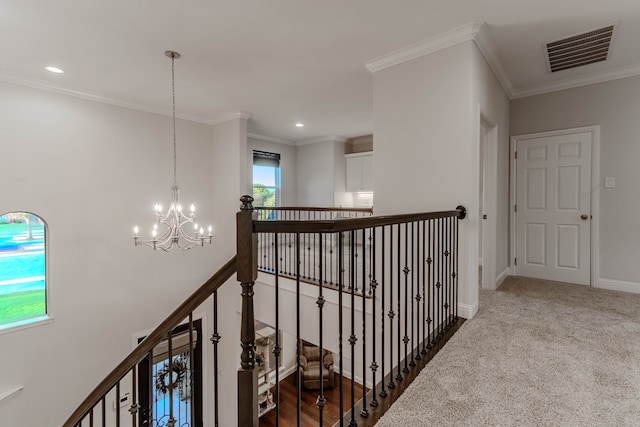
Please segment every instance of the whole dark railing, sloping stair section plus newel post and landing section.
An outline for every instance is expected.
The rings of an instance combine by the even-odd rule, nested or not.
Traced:
[[[298,426],[373,425],[461,324],[457,312],[458,223],[466,215],[464,207],[458,206],[452,211],[349,219],[258,220],[252,201],[250,196],[241,198],[242,206],[236,218],[237,255],[119,364],[73,412],[64,423],[65,427],[106,426],[108,423],[120,426],[123,385],[130,385],[131,390],[130,404],[125,408],[131,414],[130,425],[149,424],[151,414],[143,411],[151,412],[152,409],[141,408],[140,396],[136,396],[140,375],[138,364],[145,358],[153,360],[154,349],[164,340],[168,343],[168,360],[172,360],[172,331],[185,319],[188,319],[191,354],[194,348],[193,312],[212,295],[214,393],[209,406],[213,406],[217,426],[220,341],[217,292],[234,273],[242,288],[237,425],[243,427],[259,426],[261,415],[265,422],[271,417],[268,425],[279,425],[284,419],[293,423],[294,418]],[[258,236],[266,234],[275,243],[274,282],[256,286]],[[279,239],[284,235],[292,236],[293,280],[291,277],[285,280],[281,274],[280,263],[285,257],[280,254]],[[338,272],[334,290],[307,285],[301,275],[305,237],[323,241],[327,236],[333,236],[337,242],[330,249],[335,254],[325,257],[326,246],[318,245],[314,249],[318,252],[316,272],[322,283],[326,271],[324,264],[332,259],[333,268]],[[260,293],[259,316],[254,307],[256,292]],[[272,373],[261,371],[261,381],[267,381],[266,384],[258,382],[258,371],[264,367],[260,365],[264,364],[265,356],[269,356],[256,354],[257,322],[265,323],[275,331],[275,342],[269,347],[275,358],[275,369]],[[280,392],[281,381],[286,380],[281,378],[285,373],[281,365],[285,353],[291,354],[292,350],[284,346],[282,332],[295,338],[295,364],[289,367],[293,368],[296,390],[293,402],[286,402],[287,398]],[[331,355],[310,368],[316,370],[311,372],[311,377],[315,378],[312,381],[306,381],[311,364],[307,364],[305,355],[309,354],[303,353],[303,343],[317,347],[319,354]],[[193,373],[193,366],[188,370]],[[329,370],[331,381],[325,387],[328,375],[325,371]],[[173,375],[170,373],[167,378],[166,386],[172,390],[175,386]],[[303,399],[302,394],[309,393],[305,390],[309,384],[317,388],[310,392],[317,393],[313,399],[316,403],[312,404],[315,416],[310,415],[308,408],[303,411],[308,399]],[[329,384],[336,384],[333,393],[328,390]],[[259,395],[264,393],[272,395],[268,399],[272,404],[268,408],[270,412],[260,410],[262,400]],[[107,396],[109,401],[117,402],[115,414],[107,411]],[[336,408],[328,411],[326,407],[330,405],[335,405],[337,411]],[[169,408],[169,418],[163,425],[174,426],[176,420],[171,412],[171,402]],[[285,408],[295,409],[287,412]],[[191,426],[194,426],[195,409],[190,411]],[[334,413],[340,415],[330,420]]]

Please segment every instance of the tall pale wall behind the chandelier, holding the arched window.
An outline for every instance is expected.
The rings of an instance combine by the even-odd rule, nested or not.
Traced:
[[[179,120],[177,134],[181,198],[212,221],[213,245],[186,253],[134,247],[133,225],[146,232],[153,204],[170,196],[171,119],[0,83],[0,212],[48,222],[54,317],[0,335],[0,393],[24,386],[0,403],[3,425],[61,425],[129,353],[132,334],[157,326],[233,253],[225,230],[233,234],[246,183],[237,172],[235,196],[218,193],[229,178],[212,168],[211,126]]]

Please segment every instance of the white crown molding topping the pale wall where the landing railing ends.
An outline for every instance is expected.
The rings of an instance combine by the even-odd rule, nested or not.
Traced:
[[[484,22],[470,22],[453,28],[434,37],[419,41],[407,47],[394,50],[385,55],[374,58],[365,63],[365,67],[372,73],[402,64],[403,62],[455,46],[465,41],[473,40]]]

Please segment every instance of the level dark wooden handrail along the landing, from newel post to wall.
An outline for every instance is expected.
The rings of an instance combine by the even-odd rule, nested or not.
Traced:
[[[254,221],[254,233],[336,233],[340,231],[361,230],[363,228],[404,224],[414,221],[426,221],[437,218],[458,217],[463,219],[466,209],[462,206],[454,211],[426,212],[387,216],[370,216],[335,220],[278,220]]]

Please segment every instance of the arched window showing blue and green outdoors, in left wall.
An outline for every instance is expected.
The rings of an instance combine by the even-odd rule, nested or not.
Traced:
[[[0,215],[0,329],[47,318],[46,238],[39,216]]]

